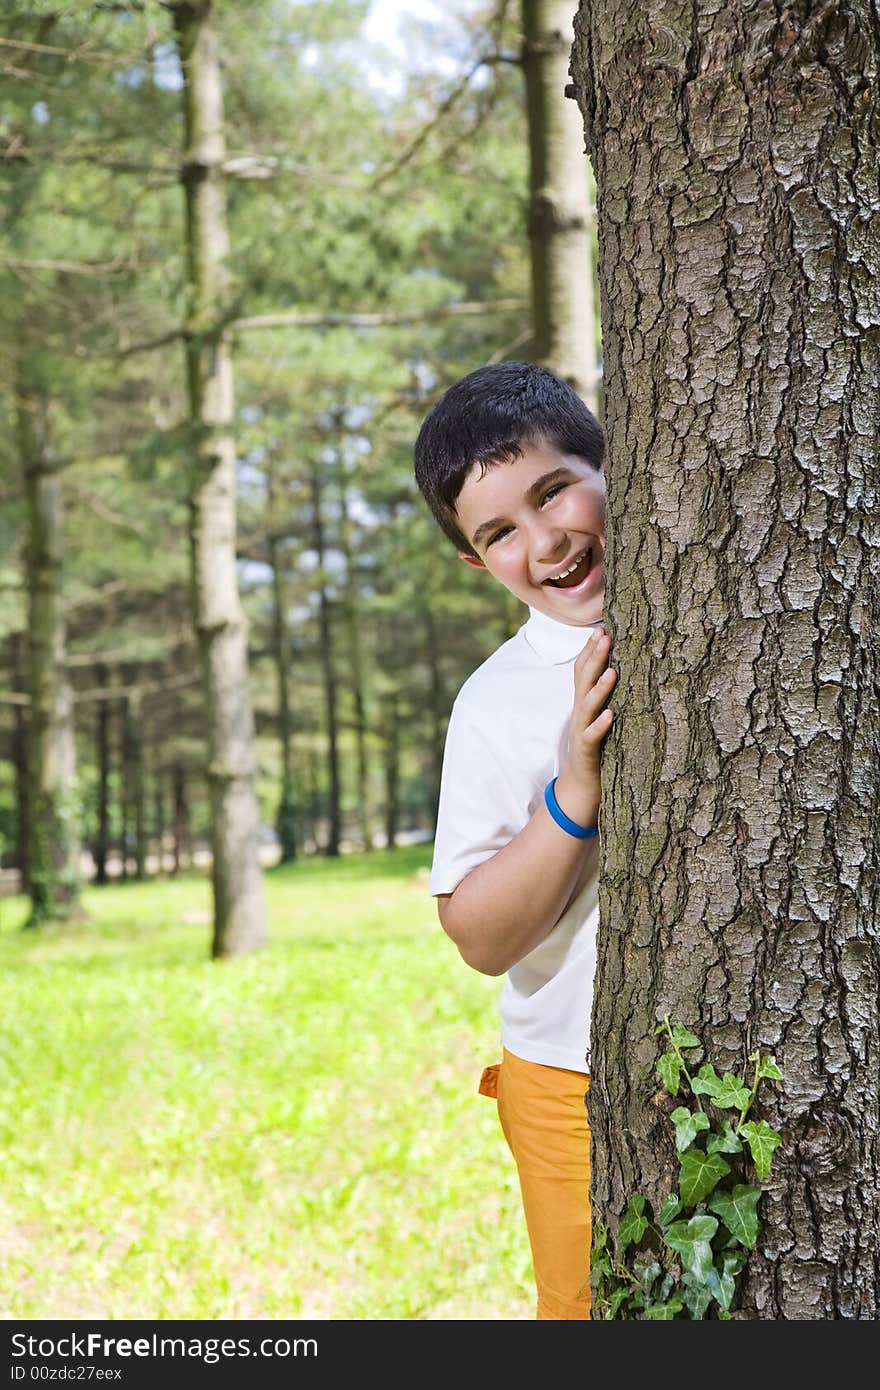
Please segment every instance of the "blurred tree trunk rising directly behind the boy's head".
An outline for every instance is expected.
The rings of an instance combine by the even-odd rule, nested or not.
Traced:
[[[566,100],[576,0],[523,0],[532,357],[596,409],[592,207],[584,126]]]

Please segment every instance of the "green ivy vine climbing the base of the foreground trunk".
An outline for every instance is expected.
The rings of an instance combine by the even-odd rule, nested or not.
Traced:
[[[762,1081],[781,1081],[773,1056],[752,1052],[748,1086],[710,1062],[694,1074],[684,1052],[701,1040],[669,1016],[656,1029],[667,1049],[656,1070],[680,1097],[670,1113],[678,1155],[678,1191],[655,1212],[630,1197],[617,1236],[594,1225],[591,1283],[596,1319],[728,1319],[737,1277],[758,1243],[760,1187],[745,1182],[751,1166],[763,1182],[781,1138],[766,1120],[748,1119]],[[735,1118],[734,1118],[735,1116]]]

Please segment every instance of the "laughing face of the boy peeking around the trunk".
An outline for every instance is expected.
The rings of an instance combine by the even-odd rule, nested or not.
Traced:
[[[467,474],[456,516],[487,569],[523,603],[573,627],[602,620],[605,474],[544,441]],[[570,573],[569,573],[570,571]]]

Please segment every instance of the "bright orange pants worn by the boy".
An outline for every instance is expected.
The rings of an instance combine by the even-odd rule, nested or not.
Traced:
[[[541,1320],[589,1319],[589,1126],[585,1072],[524,1062],[503,1049],[487,1066],[482,1095],[498,1118],[520,1175]]]

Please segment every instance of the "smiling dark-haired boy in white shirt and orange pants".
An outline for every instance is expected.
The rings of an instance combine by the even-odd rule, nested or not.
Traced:
[[[446,391],[414,453],[462,560],[530,609],[455,701],[431,892],[467,965],[507,973],[502,1062],[480,1090],[498,1097],[517,1166],[537,1316],[588,1319],[596,821],[616,682],[602,628],[602,430],[552,373],[505,361]]]

